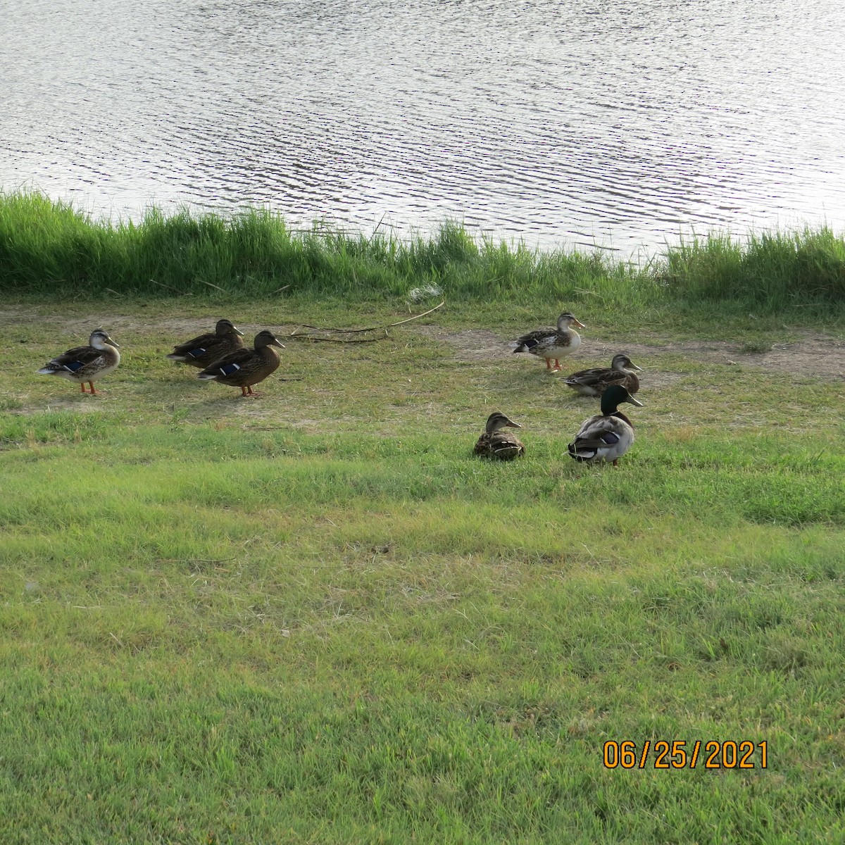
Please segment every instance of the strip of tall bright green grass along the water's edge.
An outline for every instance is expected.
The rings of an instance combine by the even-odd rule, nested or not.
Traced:
[[[436,236],[402,240],[314,227],[292,232],[269,210],[231,217],[98,221],[41,194],[0,194],[0,290],[35,296],[112,291],[141,297],[208,293],[395,297],[439,286],[473,300],[547,297],[604,308],[731,300],[777,312],[845,303],[845,237],[829,228],[711,235],[668,247],[645,265],[473,238],[446,222]]]

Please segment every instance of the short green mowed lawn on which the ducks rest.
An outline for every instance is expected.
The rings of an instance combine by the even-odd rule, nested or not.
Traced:
[[[564,373],[645,370],[582,466],[597,401],[504,346],[557,312],[495,311],[0,315],[0,842],[842,841],[841,341],[808,374],[751,354],[800,333],[576,309]],[[220,317],[286,343],[259,399],[164,358]],[[99,324],[106,393],[35,375]],[[493,410],[524,460],[472,457]]]

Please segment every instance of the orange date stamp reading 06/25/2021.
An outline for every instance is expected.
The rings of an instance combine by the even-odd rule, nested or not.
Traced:
[[[606,769],[766,769],[769,766],[768,743],[750,739],[704,741],[695,739],[646,739],[636,743],[633,739],[616,742],[608,739],[604,744]]]

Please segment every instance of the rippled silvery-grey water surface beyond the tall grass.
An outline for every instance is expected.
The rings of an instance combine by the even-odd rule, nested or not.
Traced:
[[[646,253],[845,227],[841,0],[3,3],[0,187]]]

